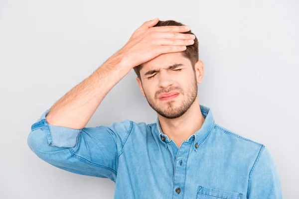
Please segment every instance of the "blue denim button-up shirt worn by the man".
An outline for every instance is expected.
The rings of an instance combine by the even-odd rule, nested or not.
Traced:
[[[201,128],[179,148],[158,117],[72,129],[49,124],[49,110],[31,126],[30,149],[57,168],[112,180],[114,199],[282,199],[265,145],[216,124],[207,106]]]

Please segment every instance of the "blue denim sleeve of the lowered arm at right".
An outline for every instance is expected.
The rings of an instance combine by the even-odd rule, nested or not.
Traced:
[[[282,199],[280,177],[269,153],[262,145],[250,172],[247,199]]]

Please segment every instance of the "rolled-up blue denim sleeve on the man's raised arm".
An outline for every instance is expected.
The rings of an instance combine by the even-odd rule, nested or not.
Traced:
[[[49,124],[45,118],[49,111],[32,124],[29,148],[57,168],[116,182],[118,158],[133,122],[127,119],[110,126],[73,129]]]

